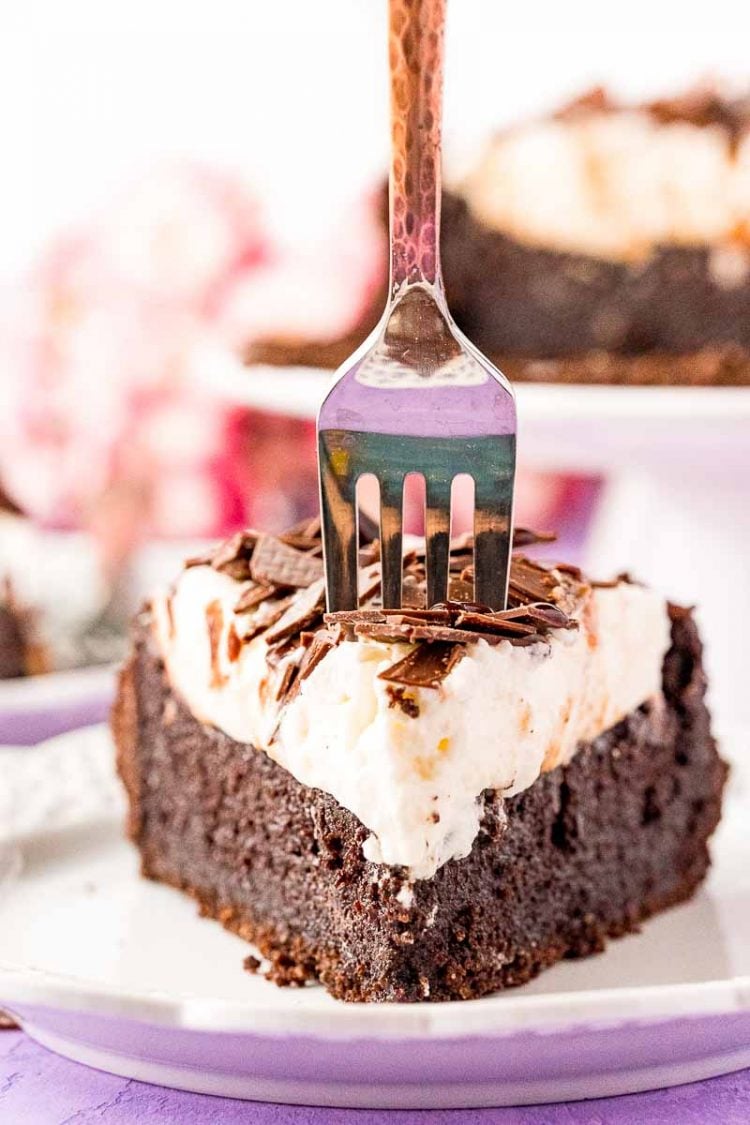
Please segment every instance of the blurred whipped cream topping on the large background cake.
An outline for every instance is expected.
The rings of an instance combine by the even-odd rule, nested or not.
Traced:
[[[496,137],[463,194],[486,226],[598,258],[747,240],[750,136],[734,151],[720,126],[638,110],[542,120]]]

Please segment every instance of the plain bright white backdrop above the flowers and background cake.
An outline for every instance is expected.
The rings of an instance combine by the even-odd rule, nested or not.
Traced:
[[[1,7],[0,278],[157,159],[243,171],[290,238],[385,168],[385,0]],[[741,82],[749,33],[746,0],[449,0],[453,166],[493,126],[594,83],[638,96]]]

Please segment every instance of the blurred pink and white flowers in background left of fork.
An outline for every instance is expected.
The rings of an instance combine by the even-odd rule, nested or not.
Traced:
[[[382,269],[372,209],[362,205],[356,222],[345,243],[284,248],[243,181],[178,164],[60,238],[6,302],[9,493],[46,525],[98,529],[115,555],[139,536],[213,537],[255,515],[293,518],[293,453],[269,466],[270,423],[197,388],[191,360],[207,342],[349,331]],[[299,423],[271,429],[277,450],[284,435],[288,446],[309,436]],[[314,458],[305,462],[309,477]]]

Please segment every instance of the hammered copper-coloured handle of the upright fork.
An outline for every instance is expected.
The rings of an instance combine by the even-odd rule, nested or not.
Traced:
[[[440,269],[445,0],[389,0],[390,292]]]

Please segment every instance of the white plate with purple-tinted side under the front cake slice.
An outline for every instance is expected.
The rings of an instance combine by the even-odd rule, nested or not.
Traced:
[[[94,1066],[266,1100],[521,1104],[737,1070],[750,1065],[747,799],[735,770],[706,888],[603,956],[484,1000],[346,1005],[243,972],[243,942],[138,876],[103,729],[2,749],[0,1005]]]

